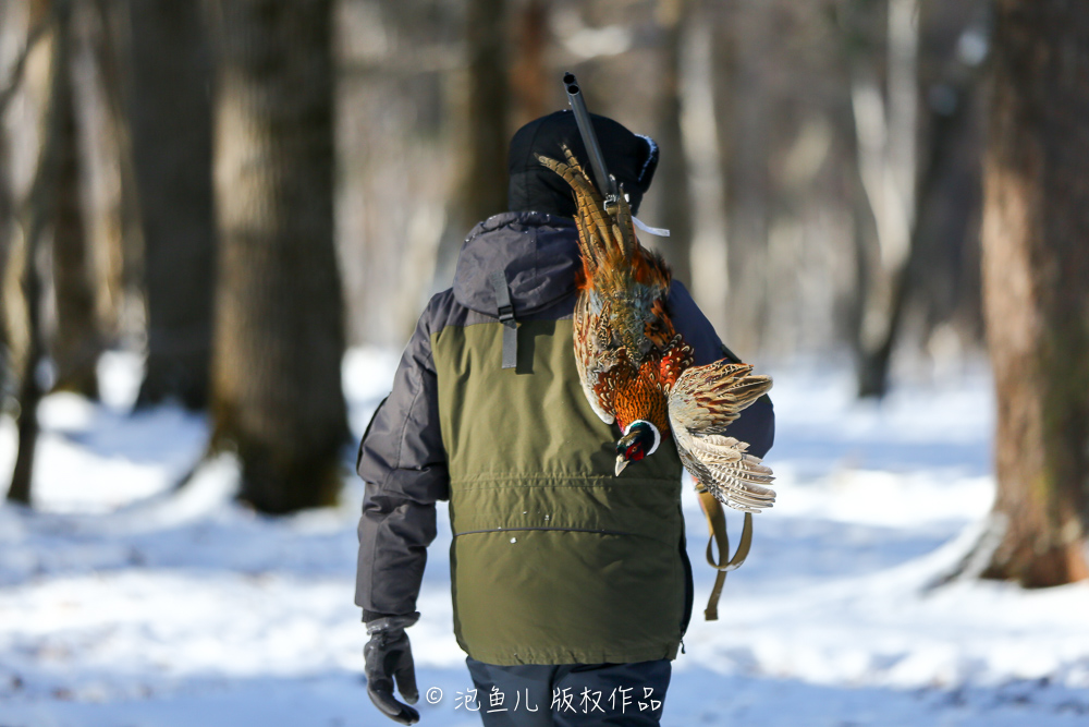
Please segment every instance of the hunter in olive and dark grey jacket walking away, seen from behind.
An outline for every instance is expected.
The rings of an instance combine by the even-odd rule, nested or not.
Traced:
[[[638,210],[653,140],[594,117],[610,171]],[[370,641],[367,690],[401,724],[419,718],[405,629],[416,622],[436,502],[449,500],[453,628],[487,727],[658,725],[693,606],[682,465],[664,446],[614,475],[616,433],[590,409],[575,366],[580,268],[571,189],[537,159],[585,158],[570,111],[510,147],[510,211],[474,228],[451,289],[420,316],[393,390],[359,449],[366,482],[356,604]],[[669,305],[696,365],[724,356],[674,280]],[[762,397],[730,436],[763,457]]]

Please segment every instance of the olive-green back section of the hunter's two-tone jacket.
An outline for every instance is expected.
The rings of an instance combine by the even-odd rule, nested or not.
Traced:
[[[672,440],[613,475],[617,429],[578,381],[572,322],[431,338],[450,468],[454,633],[489,664],[674,658],[690,610]]]

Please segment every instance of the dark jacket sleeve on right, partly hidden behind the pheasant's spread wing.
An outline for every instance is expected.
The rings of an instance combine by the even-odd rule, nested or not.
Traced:
[[[680,280],[674,280],[670,288],[670,311],[673,315],[673,327],[695,350],[697,366],[723,358],[741,363],[741,359],[719,340],[711,322],[692,300],[692,295]],[[771,404],[771,398],[764,395],[757,399],[742,412],[736,422],[730,425],[726,433],[747,441],[749,451],[757,457],[764,457],[775,441],[775,410]]]

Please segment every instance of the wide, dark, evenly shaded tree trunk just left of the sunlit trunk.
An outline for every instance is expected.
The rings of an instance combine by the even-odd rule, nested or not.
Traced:
[[[137,0],[130,8],[148,330],[137,404],[176,398],[200,409],[208,400],[216,250],[208,33],[199,2]]]

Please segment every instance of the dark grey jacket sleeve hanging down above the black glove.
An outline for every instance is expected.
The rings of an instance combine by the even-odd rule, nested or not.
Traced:
[[[416,610],[427,546],[436,535],[435,502],[450,497],[429,312],[430,306],[401,358],[393,390],[359,446],[356,469],[366,494],[355,603],[365,621]]]

